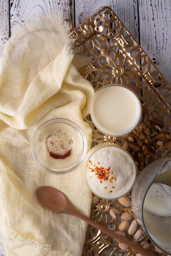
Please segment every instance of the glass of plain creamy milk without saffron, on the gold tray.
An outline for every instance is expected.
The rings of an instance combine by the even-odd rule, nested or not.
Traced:
[[[124,85],[105,85],[91,101],[91,119],[106,135],[122,137],[139,123],[142,106],[138,96]]]

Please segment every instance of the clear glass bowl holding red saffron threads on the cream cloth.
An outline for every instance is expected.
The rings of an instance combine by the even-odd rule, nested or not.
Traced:
[[[31,152],[47,172],[69,173],[84,160],[87,140],[84,132],[74,122],[62,118],[51,119],[34,132]]]

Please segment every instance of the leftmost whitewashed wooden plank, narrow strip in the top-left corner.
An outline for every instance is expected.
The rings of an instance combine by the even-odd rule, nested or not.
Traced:
[[[0,0],[0,57],[9,39],[9,0]]]

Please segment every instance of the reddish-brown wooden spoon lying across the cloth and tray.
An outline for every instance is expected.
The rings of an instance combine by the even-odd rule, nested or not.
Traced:
[[[134,249],[136,252],[139,252],[144,256],[154,256],[154,254],[148,252],[146,249],[143,249],[142,247],[127,240],[126,238],[119,236],[118,234],[115,234],[115,232],[108,229],[107,227],[104,227],[100,223],[95,222],[84,216],[82,213],[78,212],[73,207],[71,202],[69,202],[68,198],[58,189],[54,189],[50,186],[40,186],[38,187],[38,189],[36,189],[36,198],[43,207],[51,211],[58,213],[67,213],[76,216],[77,218],[80,218],[81,220],[84,220],[85,222],[89,223],[93,227],[96,227],[97,229],[100,229],[104,233],[112,236],[121,243],[124,243],[129,248]]]

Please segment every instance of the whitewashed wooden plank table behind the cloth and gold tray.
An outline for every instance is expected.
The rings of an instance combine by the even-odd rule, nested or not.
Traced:
[[[59,11],[76,27],[109,6],[171,81],[171,0],[0,0],[0,56],[13,27],[39,13]],[[0,256],[5,251],[0,243]]]

